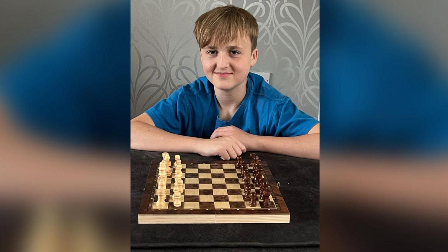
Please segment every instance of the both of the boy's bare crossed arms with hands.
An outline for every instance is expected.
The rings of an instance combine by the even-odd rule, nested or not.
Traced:
[[[210,139],[176,135],[155,127],[142,113],[131,120],[131,148],[156,152],[187,152],[202,156],[235,159],[246,151],[271,152],[319,159],[319,123],[306,135],[295,137],[258,136],[235,126],[217,128]]]

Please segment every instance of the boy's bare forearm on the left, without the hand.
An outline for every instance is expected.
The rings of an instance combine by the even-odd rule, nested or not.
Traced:
[[[198,153],[200,138],[176,135],[144,122],[131,122],[131,148],[154,152]]]

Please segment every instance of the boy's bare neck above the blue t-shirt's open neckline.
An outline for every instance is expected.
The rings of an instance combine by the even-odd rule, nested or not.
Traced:
[[[215,96],[220,110],[220,119],[224,121],[230,120],[237,112],[241,102],[244,100],[247,91],[247,78],[237,87],[231,90],[220,90],[215,88]]]

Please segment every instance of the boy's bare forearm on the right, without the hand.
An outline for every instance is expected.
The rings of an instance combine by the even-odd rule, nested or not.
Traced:
[[[319,133],[295,137],[256,136],[253,150],[319,159]]]

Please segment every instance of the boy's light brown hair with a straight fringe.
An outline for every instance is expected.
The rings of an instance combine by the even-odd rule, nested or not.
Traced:
[[[252,51],[257,48],[258,24],[247,10],[234,5],[216,7],[203,13],[194,22],[194,35],[199,48],[207,45],[222,45],[248,36],[252,44]]]

